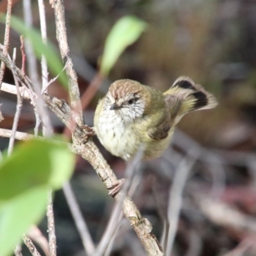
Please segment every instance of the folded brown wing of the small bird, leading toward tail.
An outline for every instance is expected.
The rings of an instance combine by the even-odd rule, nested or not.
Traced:
[[[165,95],[166,109],[158,124],[148,129],[148,136],[153,140],[163,140],[168,136],[168,133],[173,125],[175,117],[179,113],[182,104],[182,98],[175,95]]]

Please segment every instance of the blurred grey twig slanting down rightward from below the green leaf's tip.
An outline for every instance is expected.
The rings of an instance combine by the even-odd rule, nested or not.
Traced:
[[[95,245],[93,243],[92,237],[90,236],[90,232],[88,230],[86,222],[83,219],[83,215],[81,213],[81,210],[79,209],[79,205],[77,203],[76,197],[74,196],[74,193],[69,182],[67,182],[63,186],[63,191],[68,203],[68,207],[76,223],[77,230],[82,239],[84,250],[87,255],[92,255],[95,251]]]

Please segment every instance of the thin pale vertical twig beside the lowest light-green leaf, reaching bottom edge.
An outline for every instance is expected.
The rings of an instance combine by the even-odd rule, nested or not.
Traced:
[[[55,235],[55,226],[54,226],[54,214],[52,207],[52,190],[49,189],[48,192],[48,205],[47,205],[47,225],[48,225],[48,234],[49,234],[49,251],[50,256],[56,256],[56,235]]]

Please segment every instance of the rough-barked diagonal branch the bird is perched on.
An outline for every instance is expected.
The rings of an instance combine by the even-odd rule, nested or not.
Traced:
[[[0,51],[0,59],[4,61],[6,67],[12,67],[12,61],[8,60],[2,51]],[[22,83],[31,86],[31,81],[28,77],[22,75],[19,68],[17,68],[17,77],[19,77]],[[74,122],[72,122],[71,118],[73,111],[70,109],[67,102],[46,94],[44,95],[44,100],[49,109],[51,109],[51,111],[53,111],[72,131],[72,149],[74,152],[86,159],[86,161],[92,165],[106,188],[113,187],[118,181],[115,173],[113,173],[113,170],[111,170],[110,166],[100,153],[99,148],[96,147],[93,141],[90,138],[88,139],[86,133],[82,129],[78,126],[74,126]],[[120,193],[117,193],[113,197],[115,200],[120,200]],[[125,197],[122,209],[125,218],[130,222],[147,254],[150,256],[163,255],[163,250],[158,243],[156,236],[152,233],[152,225],[146,218],[142,218],[140,211],[129,196]]]

